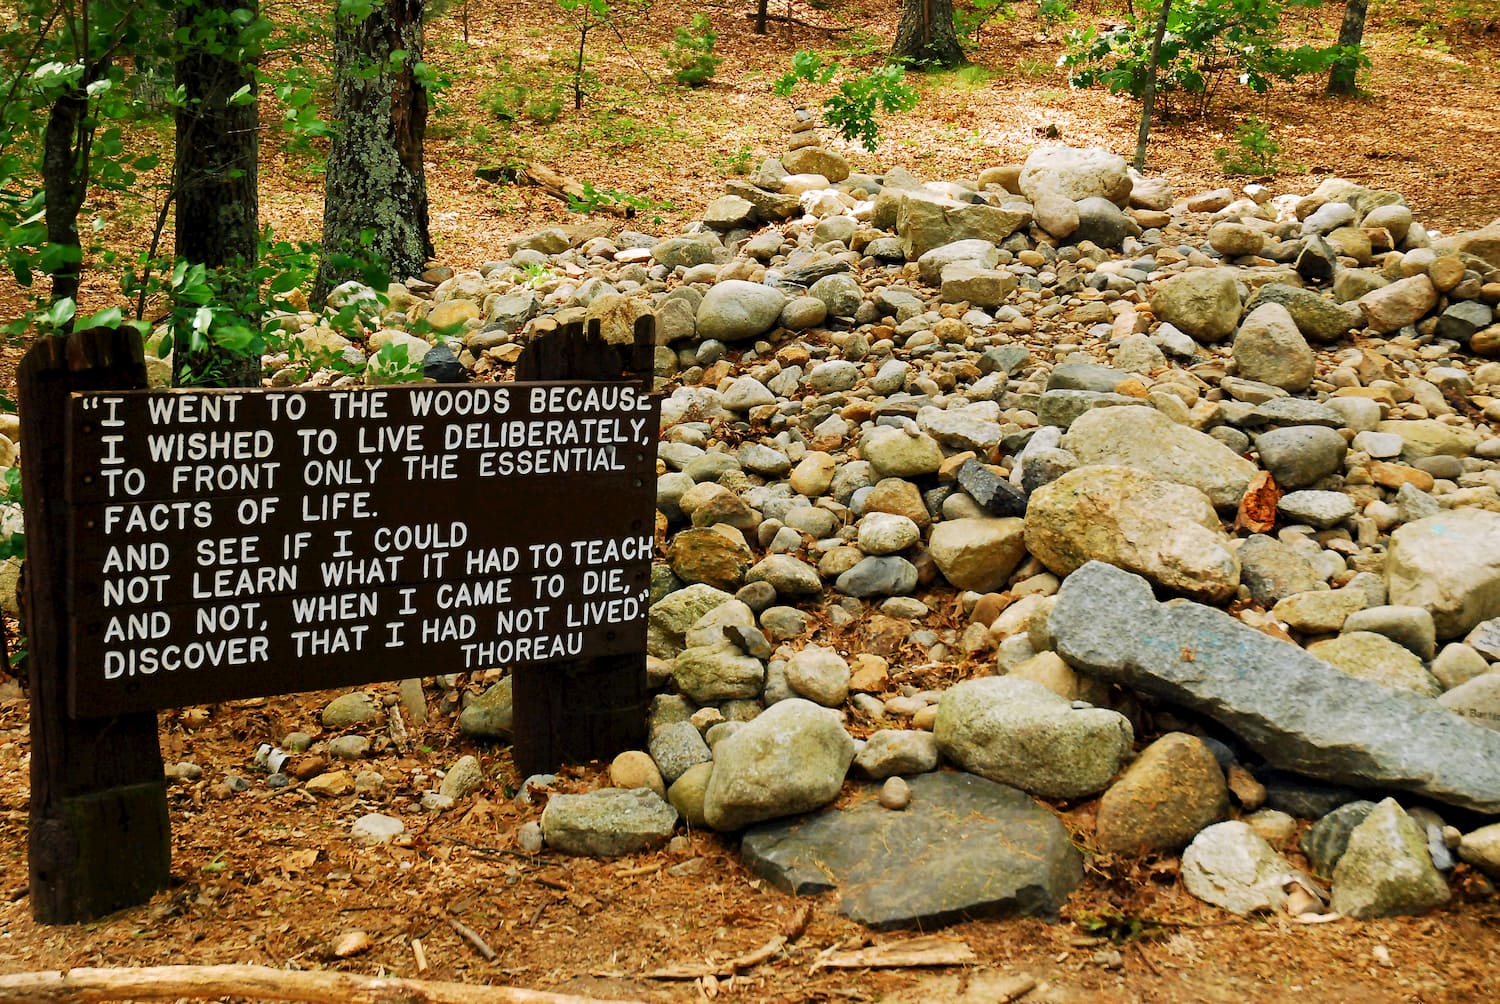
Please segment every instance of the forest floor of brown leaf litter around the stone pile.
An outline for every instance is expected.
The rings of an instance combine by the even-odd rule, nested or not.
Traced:
[[[1032,5],[1016,8],[1016,20],[984,30],[972,56],[976,69],[916,78],[918,108],[885,120],[876,150],[844,150],[856,170],[900,165],[921,179],[974,177],[1052,141],[1130,155],[1136,102],[1071,90],[1056,68],[1064,30],[1044,33]],[[514,161],[540,161],[598,191],[646,200],[632,222],[640,230],[668,233],[694,219],[724,177],[782,150],[789,105],[770,84],[795,50],[842,51],[868,63],[888,44],[896,20],[894,3],[837,0],[814,9],[772,0],[772,14],[796,23],[774,21],[760,38],[747,18],[753,5],[704,9],[724,57],[708,87],[670,86],[657,51],[686,15],[658,5],[652,17],[622,29],[628,50],[610,33],[590,35],[590,93],[574,111],[568,47],[576,47],[576,35],[570,39],[560,27],[556,8],[520,0],[450,6],[432,24],[428,50],[428,62],[453,80],[438,99],[428,141],[438,261],[471,267],[504,257],[504,242],[516,234],[579,219],[540,189],[474,177],[476,168]],[[1106,20],[1104,11],[1083,5],[1080,24]],[[1330,39],[1336,15],[1316,12],[1287,27]],[[1206,116],[1155,126],[1152,173],[1170,177],[1184,194],[1248,180],[1226,179],[1214,152],[1233,149],[1236,131],[1254,114],[1270,123],[1281,146],[1286,170],[1257,179],[1276,192],[1305,192],[1320,177],[1342,176],[1402,192],[1432,228],[1450,233],[1490,222],[1500,216],[1500,17],[1455,18],[1454,30],[1428,29],[1428,17],[1418,3],[1371,6],[1374,65],[1354,99],[1326,98],[1314,80],[1266,96],[1224,81]],[[554,102],[561,102],[555,120],[536,122],[552,117]],[[274,134],[264,153],[262,218],[284,236],[315,237],[316,158]],[[148,200],[92,209],[110,219],[110,243],[144,243]],[[99,306],[112,296],[110,284],[96,273],[88,287]],[[18,291],[0,288],[0,308],[18,303]],[[510,797],[520,779],[508,750],[472,747],[436,708],[412,731],[406,752],[387,746],[364,764],[387,780],[375,797],[320,800],[296,785],[267,789],[252,768],[256,746],[296,729],[320,732],[328,696],[164,713],[164,759],[202,768],[201,780],[180,782],[170,794],[174,887],[96,923],[42,927],[30,918],[26,878],[27,705],[21,689],[0,675],[0,972],[248,962],[628,999],[876,1001],[897,990],[910,1001],[956,999],[956,989],[942,983],[957,978],[951,972],[818,966],[830,950],[900,936],[872,933],[818,897],[806,930],[784,951],[732,980],[651,978],[672,966],[722,969],[777,935],[802,900],[752,876],[734,845],[710,833],[609,861],[520,852],[516,833],[537,809]],[[466,752],[480,756],[489,786],[454,810],[422,815],[416,803],[434,786],[435,771]],[[560,789],[597,786],[602,773],[598,765],[572,770]],[[219,797],[216,785],[228,774],[250,779],[250,789]],[[374,810],[404,816],[410,839],[354,846],[350,824]],[[1068,821],[1086,843],[1088,819]],[[1036,978],[1028,999],[1377,1002],[1500,995],[1500,902],[1474,885],[1455,882],[1454,902],[1420,918],[1298,924],[1208,908],[1174,875],[1170,858],[1120,864],[1092,857],[1062,923],[987,920],[940,933],[966,942],[976,968]],[[477,954],[450,918],[478,932],[498,957]],[[369,947],[336,957],[333,941],[351,930],[369,935]]]

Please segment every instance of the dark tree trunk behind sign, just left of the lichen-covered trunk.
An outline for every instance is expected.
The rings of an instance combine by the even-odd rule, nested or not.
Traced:
[[[258,0],[189,0],[177,27],[189,41],[177,60],[186,104],[177,111],[177,257],[218,270],[226,296],[249,302],[252,263],[260,246],[260,113],[255,101],[231,102],[242,89],[255,93],[255,56],[236,45],[236,9],[258,15]],[[174,353],[174,383],[192,374],[220,387],[254,387],[261,360],[216,345]]]

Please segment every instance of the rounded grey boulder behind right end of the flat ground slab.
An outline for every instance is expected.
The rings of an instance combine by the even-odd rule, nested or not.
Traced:
[[[950,687],[933,732],[942,753],[964,770],[1044,798],[1102,791],[1134,740],[1125,716],[1076,708],[1040,683],[1012,677]]]

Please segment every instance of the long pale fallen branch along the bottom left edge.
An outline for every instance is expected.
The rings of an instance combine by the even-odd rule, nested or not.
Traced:
[[[600,1001],[508,986],[471,986],[434,980],[298,972],[262,965],[154,965],[140,969],[51,969],[0,975],[0,1004],[164,999],[178,996],[254,996],[308,1004],[639,1004]]]

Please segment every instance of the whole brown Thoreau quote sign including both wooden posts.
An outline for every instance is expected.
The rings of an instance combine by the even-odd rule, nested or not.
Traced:
[[[524,773],[640,744],[657,402],[597,333],[531,359],[608,380],[144,392],[134,335],[33,348],[38,918],[165,882],[156,708],[512,666]]]

